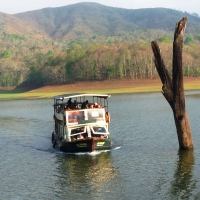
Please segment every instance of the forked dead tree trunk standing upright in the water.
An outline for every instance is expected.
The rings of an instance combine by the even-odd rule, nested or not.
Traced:
[[[176,24],[173,43],[172,78],[162,59],[160,48],[156,41],[151,42],[155,57],[155,66],[160,76],[162,94],[172,108],[180,149],[193,148],[192,133],[189,118],[185,109],[185,96],[182,70],[182,45],[187,18]]]

